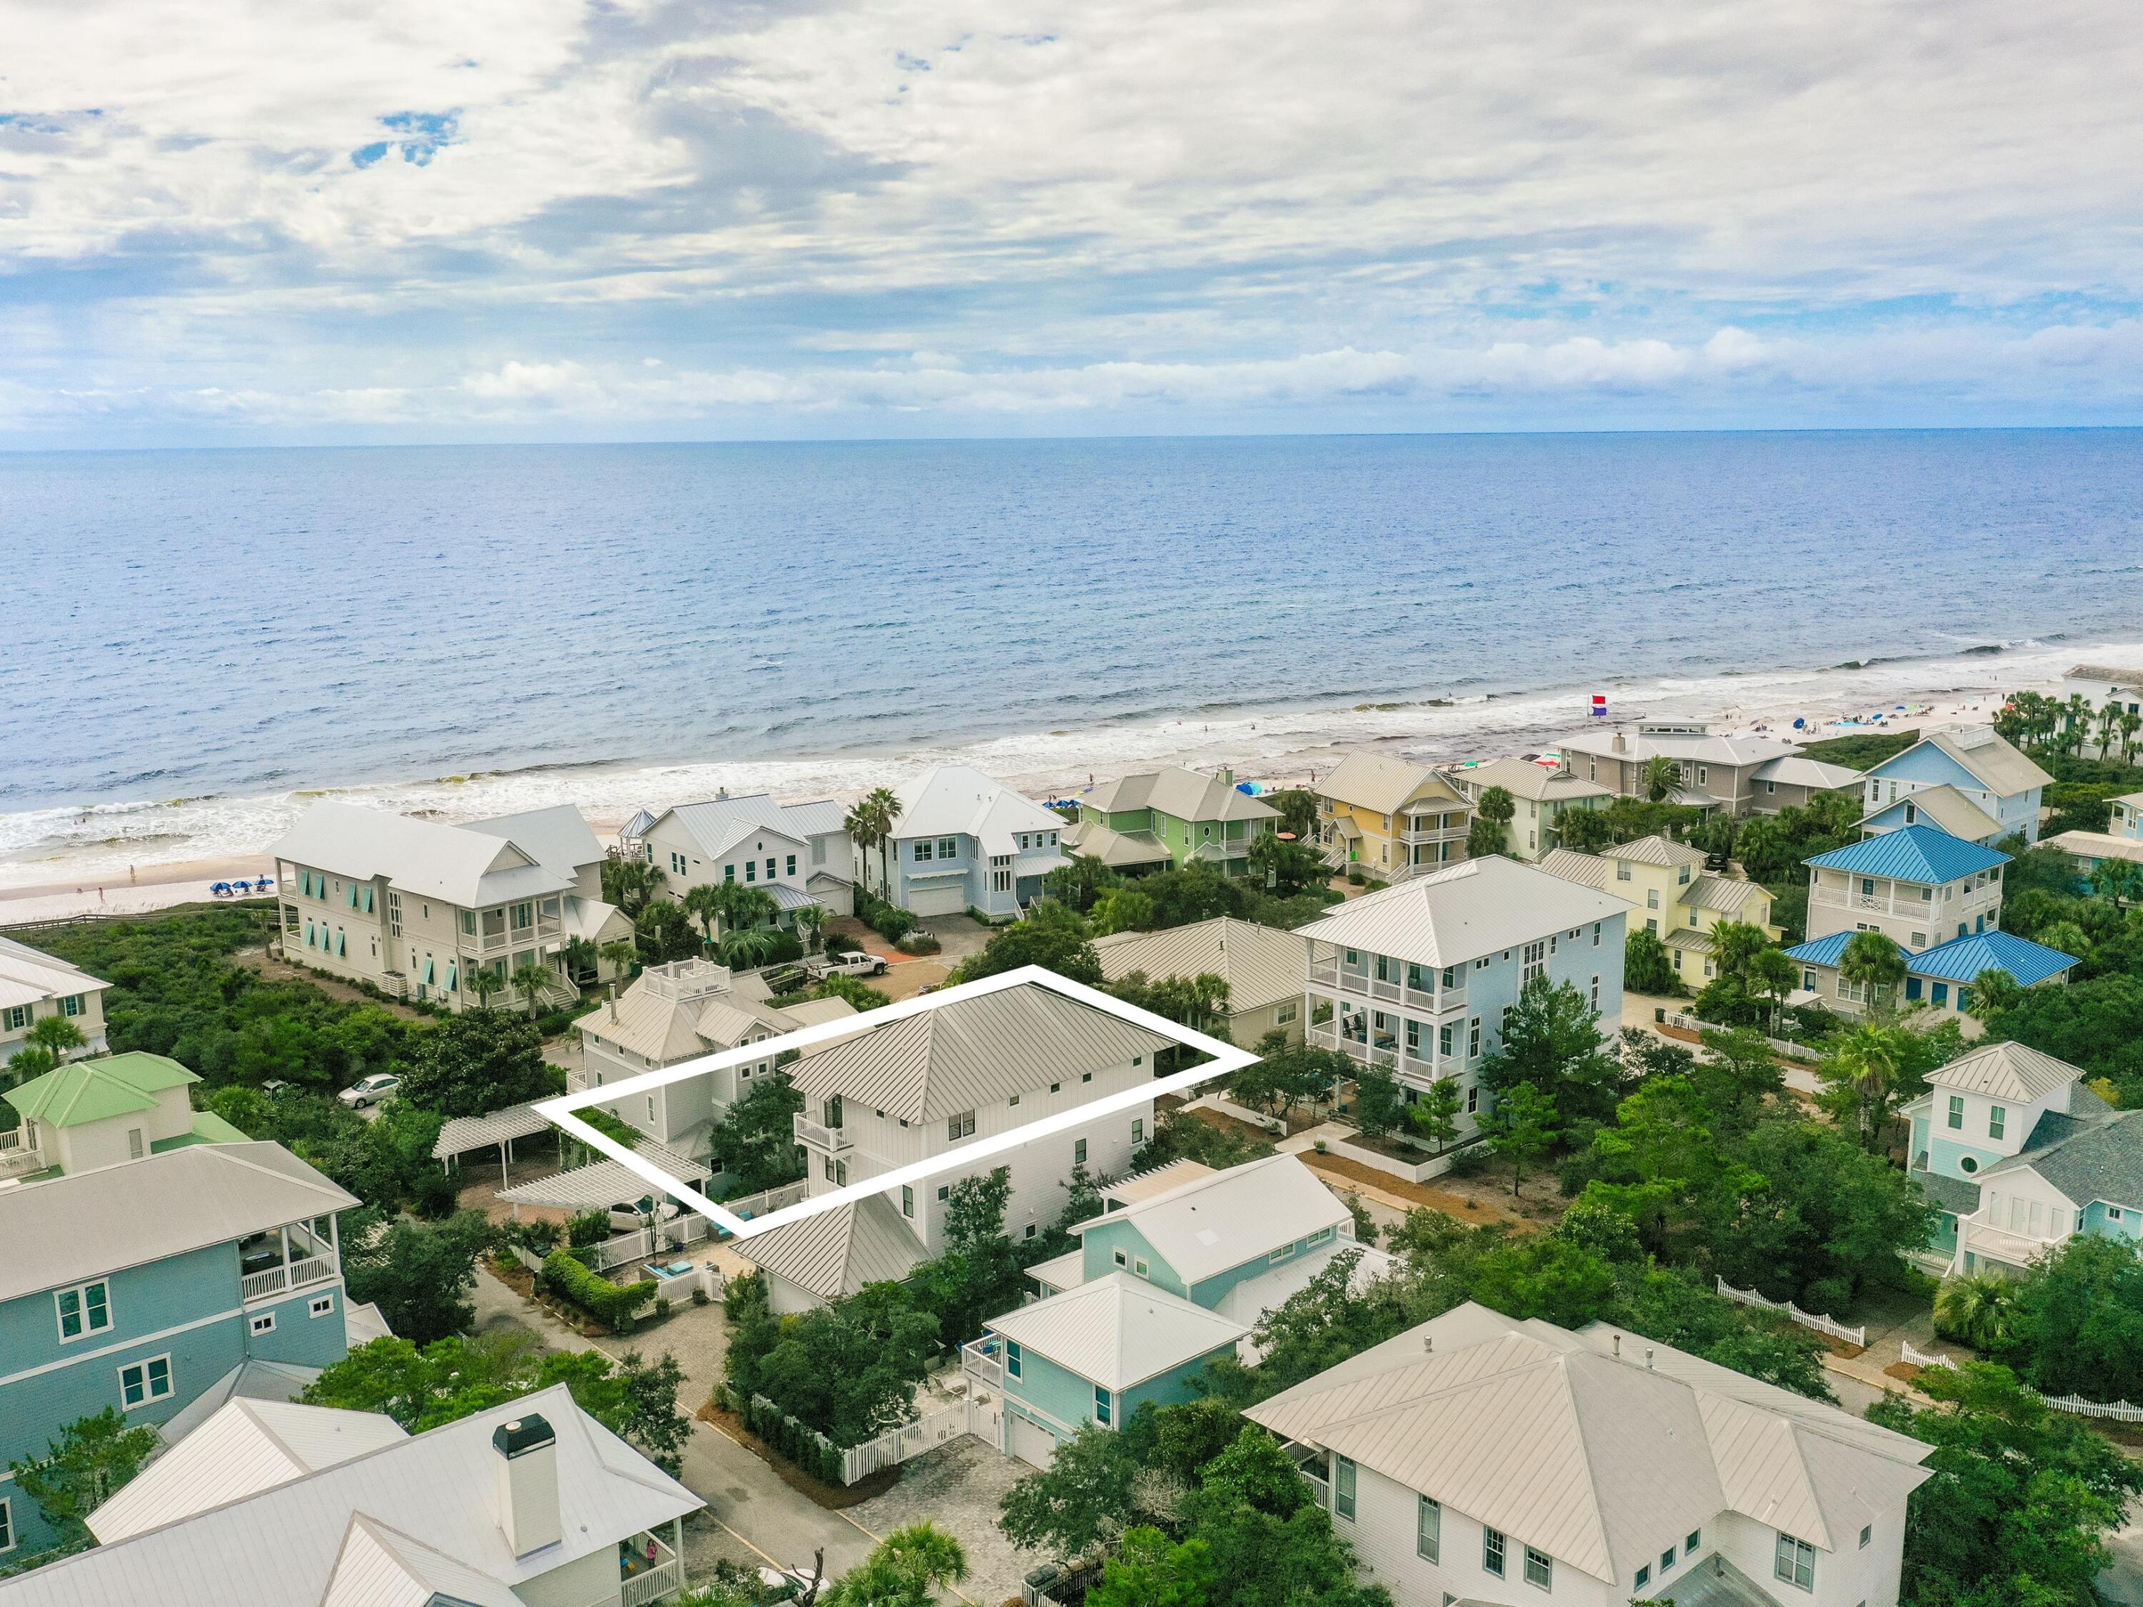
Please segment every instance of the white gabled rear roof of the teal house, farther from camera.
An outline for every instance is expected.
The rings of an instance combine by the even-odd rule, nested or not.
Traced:
[[[1072,1228],[1132,1223],[1185,1283],[1243,1266],[1320,1228],[1352,1228],[1354,1217],[1318,1174],[1294,1155],[1267,1155],[1247,1166],[1192,1178],[1123,1211]]]

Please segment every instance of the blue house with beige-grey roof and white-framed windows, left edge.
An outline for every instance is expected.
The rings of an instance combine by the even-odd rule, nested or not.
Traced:
[[[6,1463],[66,1425],[116,1408],[165,1427],[264,1378],[287,1397],[347,1352],[334,1213],[354,1204],[255,1142],[0,1189],[0,1564],[54,1541]]]

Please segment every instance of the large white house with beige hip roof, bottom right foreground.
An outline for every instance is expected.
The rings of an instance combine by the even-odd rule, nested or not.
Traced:
[[[1243,1416],[1406,1607],[1890,1607],[1929,1446],[1672,1346],[1466,1303]]]

